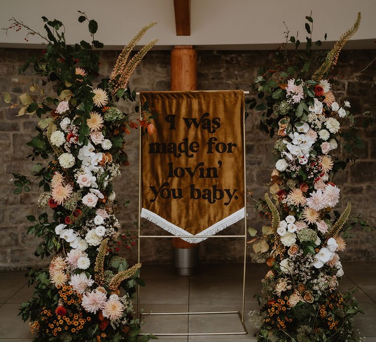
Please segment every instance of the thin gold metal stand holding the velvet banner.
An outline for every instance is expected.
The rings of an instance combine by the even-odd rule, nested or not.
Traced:
[[[210,91],[210,90],[208,90]],[[248,94],[248,91],[244,91]],[[137,93],[139,95],[140,93]],[[245,116],[243,112],[243,158],[244,158],[244,189],[246,189],[246,167],[245,167]],[[243,258],[243,298],[242,298],[242,310],[239,311],[205,311],[205,312],[160,312],[160,313],[141,313],[140,312],[140,285],[137,285],[137,315],[141,319],[142,316],[174,316],[174,315],[218,315],[218,314],[237,314],[243,331],[237,332],[208,332],[208,333],[140,333],[139,335],[155,335],[155,336],[219,336],[219,335],[246,335],[248,334],[247,328],[244,324],[244,311],[245,311],[245,276],[246,276],[246,257],[247,257],[247,201],[246,194],[244,193],[244,234],[243,235],[206,235],[205,238],[243,238],[244,239],[244,258]],[[184,237],[193,238],[197,236],[187,236],[187,235],[141,235],[141,129],[139,135],[139,218],[138,218],[138,262],[141,262],[141,238],[172,238],[172,237]]]

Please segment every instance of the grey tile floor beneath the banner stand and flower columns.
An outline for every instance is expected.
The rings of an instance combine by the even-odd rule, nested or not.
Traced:
[[[258,309],[253,296],[260,293],[265,268],[247,265],[245,312]],[[356,297],[365,315],[356,318],[356,328],[366,342],[376,342],[376,268],[374,262],[344,262],[345,276],[340,288],[359,287]],[[24,271],[0,273],[0,342],[32,341],[27,324],[17,317],[20,303],[29,299]],[[241,311],[242,265],[202,264],[196,275],[179,277],[169,265],[144,265],[141,278],[141,307],[145,313]],[[242,326],[235,314],[146,316],[145,333],[240,332]],[[160,342],[257,341],[255,330],[246,319],[248,335],[160,336]],[[240,341],[239,341],[240,342]]]

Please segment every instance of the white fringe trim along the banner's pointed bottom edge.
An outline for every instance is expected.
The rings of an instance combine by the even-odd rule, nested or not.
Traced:
[[[225,217],[224,219],[218,221],[217,223],[213,224],[209,228],[205,229],[201,233],[198,233],[196,235],[192,235],[185,231],[183,228],[180,228],[178,226],[175,226],[173,223],[167,221],[163,217],[161,217],[158,214],[155,214],[151,212],[150,210],[147,210],[145,208],[141,209],[141,217],[146,218],[150,222],[153,222],[157,226],[163,228],[165,231],[175,235],[175,236],[181,236],[181,235],[186,235],[186,236],[206,236],[206,235],[215,235],[220,231],[223,231],[225,228],[231,226],[232,224],[236,223],[237,221],[240,221],[241,219],[244,218],[245,214],[245,208],[242,208],[238,210],[237,212]],[[190,242],[190,243],[198,243],[201,241],[204,241],[207,239],[207,237],[188,237],[184,238],[182,237],[183,240]]]

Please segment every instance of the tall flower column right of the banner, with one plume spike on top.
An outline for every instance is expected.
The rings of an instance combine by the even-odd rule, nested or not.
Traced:
[[[271,225],[261,236],[250,230],[255,252],[265,253],[270,266],[258,296],[261,310],[251,312],[250,320],[259,329],[258,341],[358,341],[353,315],[360,310],[351,292],[338,289],[344,274],[339,254],[346,248],[341,231],[351,204],[342,214],[334,212],[340,189],[333,180],[349,161],[336,153],[340,121],[352,124],[353,116],[348,101],[335,99],[332,67],[358,29],[360,13],[328,53],[313,49],[321,41],[312,41],[313,19],[306,20],[305,49],[298,50],[300,41],[287,29],[276,66],[260,70],[254,85],[264,101],[248,102],[248,109],[262,111],[260,128],[277,133],[272,198],[266,193],[258,202]],[[289,42],[297,55],[287,51]]]

